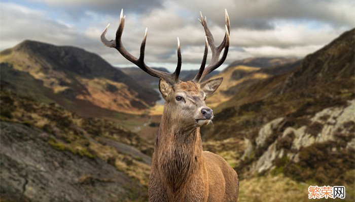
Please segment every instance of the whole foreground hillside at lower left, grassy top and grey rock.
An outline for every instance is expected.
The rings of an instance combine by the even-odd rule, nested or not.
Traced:
[[[153,146],[2,87],[1,201],[146,200]]]

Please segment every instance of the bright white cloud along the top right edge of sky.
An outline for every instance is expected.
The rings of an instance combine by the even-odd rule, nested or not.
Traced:
[[[186,9],[191,12],[202,11],[216,23],[223,23],[219,10],[228,10],[233,27],[262,29],[267,22],[279,19],[312,20],[328,23],[333,27],[353,26],[354,3],[350,0],[327,1],[293,1],[293,0],[254,0],[254,1],[210,1],[181,0]],[[351,6],[352,5],[352,6]],[[255,27],[256,22],[262,22],[261,27]],[[266,29],[272,24],[265,26]]]

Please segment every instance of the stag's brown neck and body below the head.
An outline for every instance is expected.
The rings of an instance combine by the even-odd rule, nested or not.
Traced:
[[[166,108],[165,108],[166,109]],[[165,110],[149,179],[151,201],[237,201],[237,173],[220,156],[202,150],[200,129],[177,134]]]

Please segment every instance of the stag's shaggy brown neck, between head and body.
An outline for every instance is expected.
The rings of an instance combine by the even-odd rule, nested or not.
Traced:
[[[204,167],[200,128],[177,128],[174,121],[163,113],[153,162],[173,192],[182,189]]]

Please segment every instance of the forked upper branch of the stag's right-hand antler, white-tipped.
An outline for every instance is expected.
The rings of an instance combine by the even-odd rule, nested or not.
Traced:
[[[217,69],[218,67],[220,67],[223,64],[223,62],[226,60],[227,54],[228,54],[228,49],[229,49],[229,33],[230,33],[229,17],[228,17],[227,10],[225,10],[226,34],[224,36],[222,43],[219,46],[215,46],[212,33],[209,31],[209,28],[207,27],[206,18],[203,19],[202,13],[200,13],[200,15],[201,15],[201,20],[199,20],[199,21],[201,22],[201,24],[205,30],[205,34],[206,34],[206,37],[207,37],[207,40],[209,43],[209,47],[211,48],[211,52],[212,52],[212,59],[211,59],[211,62],[208,64],[208,66],[204,69],[199,81],[202,80],[207,74],[209,74],[210,72],[212,72],[215,69]],[[219,59],[220,54],[223,49],[224,49],[224,52],[223,52],[222,58]],[[196,75],[196,77],[197,77],[197,75]]]

